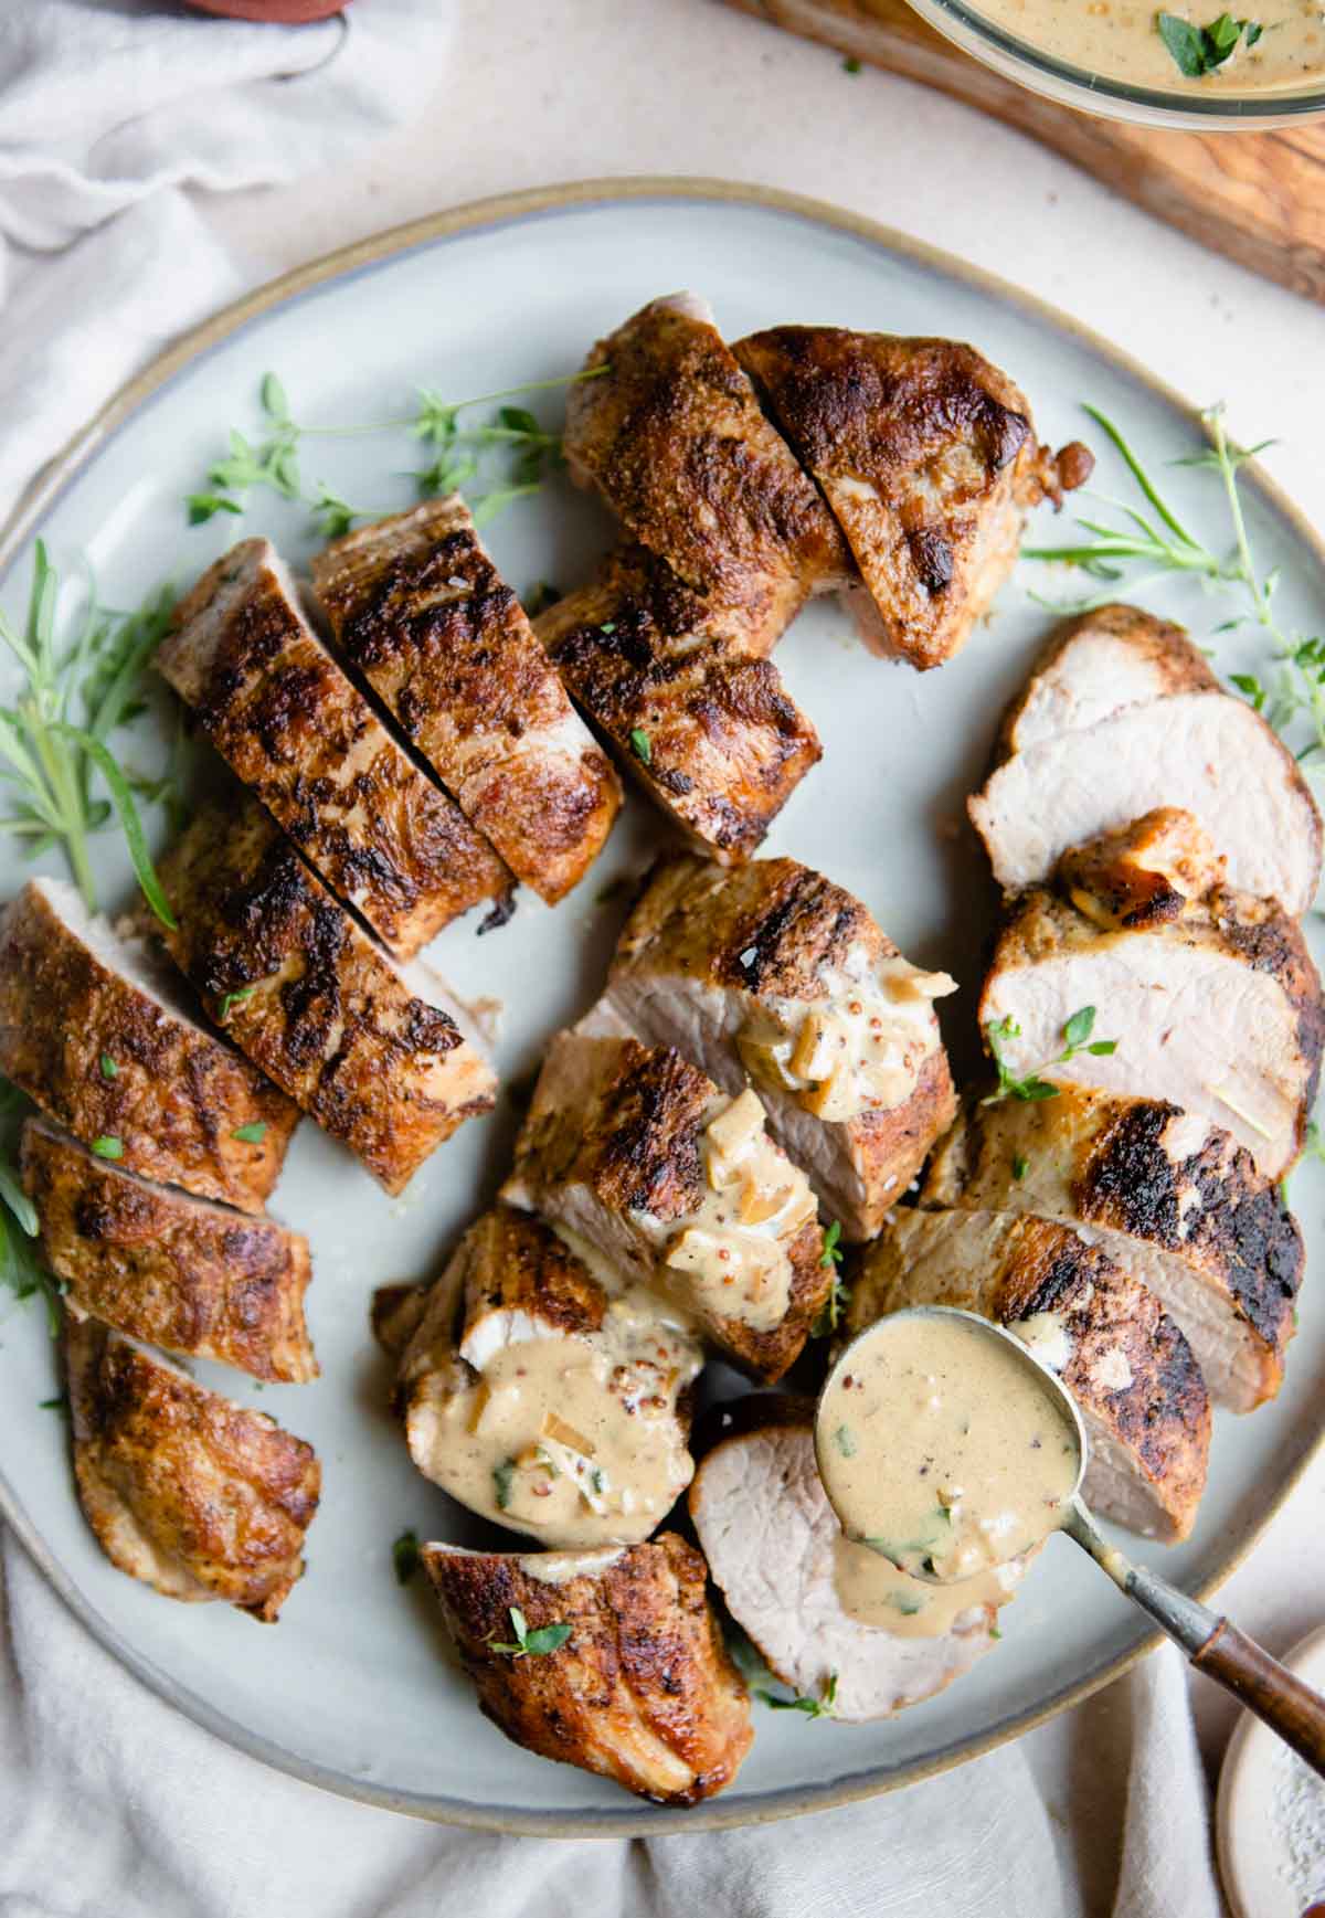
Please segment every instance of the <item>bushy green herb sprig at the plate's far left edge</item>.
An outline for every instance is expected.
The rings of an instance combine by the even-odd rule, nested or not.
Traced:
[[[157,593],[136,614],[107,614],[90,602],[79,631],[61,643],[58,591],[38,539],[23,629],[15,631],[0,612],[0,639],[25,679],[17,700],[0,706],[0,781],[13,800],[0,817],[0,832],[27,840],[33,857],[59,846],[88,911],[96,911],[88,838],[117,817],[144,898],[173,926],[134,804],[134,781],[107,744],[142,710],[142,671],[167,631],[173,596]],[[94,796],[96,777],[109,798]]]

